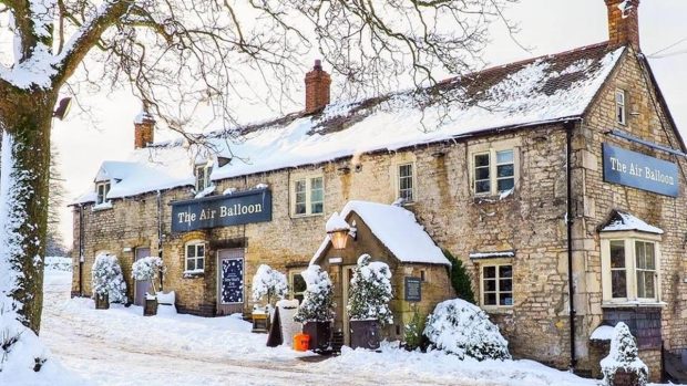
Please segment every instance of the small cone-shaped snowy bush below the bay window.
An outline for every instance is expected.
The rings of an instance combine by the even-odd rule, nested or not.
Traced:
[[[613,328],[611,351],[608,356],[602,359],[601,367],[604,374],[604,385],[613,385],[613,378],[618,371],[636,374],[638,385],[646,385],[648,368],[639,359],[637,343],[627,324],[618,322]]]

